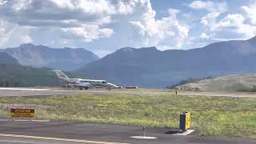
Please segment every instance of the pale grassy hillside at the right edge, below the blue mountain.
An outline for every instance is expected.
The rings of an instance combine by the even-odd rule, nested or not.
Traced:
[[[238,74],[177,86],[178,90],[256,91],[256,74]]]

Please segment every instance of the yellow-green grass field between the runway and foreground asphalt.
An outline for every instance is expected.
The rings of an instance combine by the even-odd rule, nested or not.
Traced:
[[[179,114],[190,111],[200,135],[256,138],[256,98],[121,93],[0,98],[1,117],[10,118],[15,106],[34,107],[37,119],[170,128],[178,128]]]

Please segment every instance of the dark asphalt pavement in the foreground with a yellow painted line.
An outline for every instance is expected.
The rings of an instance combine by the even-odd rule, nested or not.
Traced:
[[[139,126],[118,126],[86,122],[0,122],[0,143],[100,143],[100,144],[255,144],[242,138],[206,138],[196,132],[188,136],[165,134],[166,128],[146,128],[146,136],[157,139],[134,139],[142,134]]]

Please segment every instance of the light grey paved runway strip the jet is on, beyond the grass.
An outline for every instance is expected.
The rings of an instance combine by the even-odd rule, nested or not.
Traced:
[[[34,89],[34,88],[0,88],[0,97],[3,96],[50,96],[63,94],[112,94],[112,93],[128,93],[128,94],[174,94],[170,90],[70,90],[70,89]],[[216,97],[251,97],[256,98],[256,93],[243,92],[193,92],[193,91],[178,91],[180,95],[205,95]]]

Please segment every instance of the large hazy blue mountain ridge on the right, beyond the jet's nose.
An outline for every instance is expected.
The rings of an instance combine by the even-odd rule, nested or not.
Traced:
[[[79,71],[119,85],[166,87],[186,78],[256,72],[256,37],[192,50],[122,48]]]

